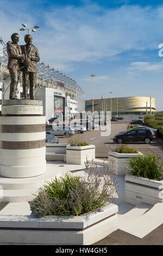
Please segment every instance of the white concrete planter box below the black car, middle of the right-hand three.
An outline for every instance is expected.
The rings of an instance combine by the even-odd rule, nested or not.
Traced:
[[[127,174],[127,160],[129,157],[137,157],[142,155],[138,154],[121,154],[116,152],[109,152],[108,163],[110,164],[111,172],[116,175],[125,176]]]

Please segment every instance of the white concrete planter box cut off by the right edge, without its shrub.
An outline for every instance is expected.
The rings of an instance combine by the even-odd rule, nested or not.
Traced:
[[[132,175],[125,176],[125,200],[129,204],[162,203],[163,180],[150,180]]]

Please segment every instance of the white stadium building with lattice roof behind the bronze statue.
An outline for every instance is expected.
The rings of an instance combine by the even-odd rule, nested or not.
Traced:
[[[10,76],[7,68],[7,45],[0,39],[0,111],[2,100],[9,99]],[[18,83],[17,98],[21,99],[22,77]],[[62,120],[73,118],[76,113],[85,111],[84,91],[72,78],[58,70],[37,63],[37,78],[34,89],[36,100],[43,102],[46,120],[60,116]]]

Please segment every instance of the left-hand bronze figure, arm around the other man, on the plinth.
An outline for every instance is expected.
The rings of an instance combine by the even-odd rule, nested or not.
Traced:
[[[8,52],[8,69],[10,73],[10,100],[17,99],[17,85],[20,78],[20,60],[24,59],[21,47],[17,44],[19,41],[19,36],[17,33],[11,35],[11,41],[7,43]]]

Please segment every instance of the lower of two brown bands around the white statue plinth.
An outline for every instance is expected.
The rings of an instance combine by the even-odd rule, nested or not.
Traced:
[[[46,146],[45,139],[41,139],[40,141],[1,141],[0,148],[1,149],[37,149],[43,148]]]

